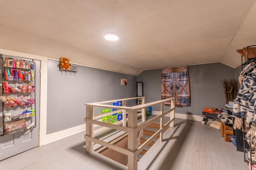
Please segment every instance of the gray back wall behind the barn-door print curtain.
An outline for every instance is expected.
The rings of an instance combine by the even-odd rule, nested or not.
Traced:
[[[188,66],[191,106],[177,107],[175,112],[202,115],[204,107],[224,108],[226,100],[222,81],[224,78],[236,78],[235,72],[235,69],[222,63]],[[137,76],[137,81],[144,83],[146,103],[161,100],[161,74],[162,69],[153,69],[143,71]],[[152,110],[160,111],[160,105],[153,106]]]

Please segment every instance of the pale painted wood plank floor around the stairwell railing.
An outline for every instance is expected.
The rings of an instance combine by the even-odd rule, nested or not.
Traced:
[[[0,170],[121,170],[96,152],[85,151],[85,132],[36,147],[0,161]],[[116,135],[115,132],[112,134]],[[247,170],[243,152],[224,142],[220,130],[196,121],[176,119],[138,162],[138,170]]]

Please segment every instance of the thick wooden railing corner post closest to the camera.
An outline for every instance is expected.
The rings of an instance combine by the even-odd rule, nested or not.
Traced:
[[[128,127],[135,129],[138,125],[137,111],[128,110]],[[137,132],[128,133],[128,150],[134,152],[137,149]],[[128,170],[138,169],[138,155],[128,156]]]

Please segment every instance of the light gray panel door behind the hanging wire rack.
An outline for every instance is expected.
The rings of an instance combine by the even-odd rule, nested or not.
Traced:
[[[2,55],[3,58],[6,57],[10,57],[10,58],[15,58],[15,59],[24,59],[24,58],[19,58],[19,57],[14,57],[14,56],[8,56],[8,55]],[[24,59],[26,60],[26,59]],[[29,59],[28,59],[29,60]],[[3,65],[3,59],[0,59],[0,65]],[[31,148],[35,148],[38,146],[39,144],[39,89],[40,89],[40,61],[38,60],[34,60],[35,62],[35,69],[34,69],[34,76],[35,76],[35,81],[34,81],[34,85],[35,85],[35,93],[21,93],[21,94],[11,94],[14,95],[15,97],[24,97],[26,99],[32,97],[35,99],[35,105],[34,106],[26,106],[26,107],[20,107],[20,106],[16,106],[16,107],[10,107],[10,108],[4,108],[4,113],[6,112],[11,112],[12,115],[16,115],[17,113],[20,113],[22,111],[25,110],[30,110],[31,108],[35,110],[35,116],[33,117],[27,117],[26,119],[26,125],[30,125],[31,123],[36,123],[35,127],[31,127],[29,130],[24,130],[23,132],[17,132],[14,134],[8,134],[8,135],[4,135],[4,136],[0,136],[0,160],[9,158],[10,156],[14,156],[16,154],[19,154],[21,152],[24,152],[26,150],[29,150]],[[0,85],[2,86],[2,81],[3,81],[3,67],[1,70],[1,76],[0,76],[0,80],[1,83]],[[11,69],[11,68],[10,68]],[[9,81],[8,81],[9,83]],[[22,83],[24,82],[15,82],[12,83],[12,81],[10,81],[10,85],[14,85],[18,88],[20,88],[20,84],[22,85]],[[3,87],[1,88],[3,89]],[[2,92],[3,90],[1,90],[0,94],[2,95],[6,95],[3,94]],[[9,95],[9,94],[8,94]],[[2,109],[2,101],[0,101],[0,134],[2,133],[2,124],[6,123],[3,122],[3,113],[2,113],[3,109]]]

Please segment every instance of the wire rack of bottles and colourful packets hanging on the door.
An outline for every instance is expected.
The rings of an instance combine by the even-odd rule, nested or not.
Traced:
[[[2,59],[2,134],[6,136],[36,127],[35,63],[32,59]]]

